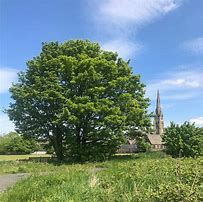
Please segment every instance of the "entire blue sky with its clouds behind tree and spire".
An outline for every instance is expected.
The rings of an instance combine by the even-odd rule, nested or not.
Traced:
[[[41,43],[90,39],[131,59],[165,124],[203,126],[202,0],[1,0],[0,134],[14,129],[3,109],[8,88],[38,55]]]

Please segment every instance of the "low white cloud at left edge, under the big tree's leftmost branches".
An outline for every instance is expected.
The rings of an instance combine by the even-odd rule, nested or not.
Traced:
[[[6,114],[0,114],[0,135],[14,131],[15,126]]]

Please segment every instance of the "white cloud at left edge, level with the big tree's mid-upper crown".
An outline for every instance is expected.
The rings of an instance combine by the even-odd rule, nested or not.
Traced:
[[[8,91],[12,82],[17,78],[17,70],[0,68],[0,93]]]

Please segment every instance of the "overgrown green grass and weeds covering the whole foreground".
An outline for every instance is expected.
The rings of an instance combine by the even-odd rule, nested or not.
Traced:
[[[31,173],[2,193],[0,201],[198,202],[202,200],[201,161],[173,159],[163,153],[85,164],[0,161],[1,174]]]

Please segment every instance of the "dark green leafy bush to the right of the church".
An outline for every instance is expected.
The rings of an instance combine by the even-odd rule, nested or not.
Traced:
[[[185,122],[178,125],[172,122],[163,136],[166,152],[173,157],[196,157],[201,152],[202,136],[203,130],[194,124]]]

